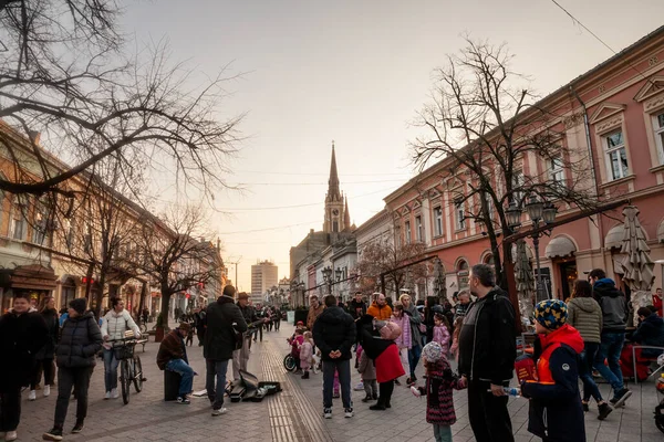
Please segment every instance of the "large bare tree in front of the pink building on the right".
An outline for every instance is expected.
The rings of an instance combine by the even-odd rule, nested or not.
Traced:
[[[435,72],[433,98],[416,119],[426,135],[412,143],[413,162],[424,168],[446,158],[440,178],[466,219],[486,230],[497,278],[507,288],[500,256],[509,256],[510,246],[500,253],[498,236],[511,232],[509,204],[522,209],[537,196],[589,208],[596,197],[588,156],[568,148],[560,116],[538,106],[528,78],[510,70],[506,46],[466,42]],[[525,175],[529,155],[547,166]]]

